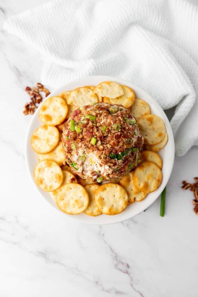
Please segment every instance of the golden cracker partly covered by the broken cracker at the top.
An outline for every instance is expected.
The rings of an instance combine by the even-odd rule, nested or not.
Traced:
[[[104,97],[103,101],[109,104],[121,104],[126,108],[130,108],[135,100],[135,93],[127,86],[122,85],[122,89],[124,90],[123,96],[117,98]]]

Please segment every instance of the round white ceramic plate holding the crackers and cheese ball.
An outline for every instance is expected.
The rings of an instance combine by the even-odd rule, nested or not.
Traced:
[[[174,156],[175,156],[175,145],[174,145],[172,129],[170,127],[170,123],[169,123],[164,111],[158,105],[158,103],[153,98],[151,98],[150,95],[148,95],[145,91],[141,90],[137,86],[134,86],[132,83],[129,83],[126,80],[123,80],[120,78],[114,78],[114,77],[110,77],[110,76],[103,76],[103,75],[79,78],[79,79],[73,80],[69,83],[66,83],[64,86],[62,86],[61,88],[59,88],[56,91],[54,91],[53,93],[51,93],[49,97],[56,96],[63,91],[73,90],[80,86],[87,86],[87,85],[96,86],[98,83],[100,83],[102,81],[106,81],[106,80],[115,81],[117,83],[120,83],[121,85],[126,85],[126,86],[131,87],[135,91],[137,98],[144,99],[150,105],[151,113],[154,113],[154,114],[160,116],[164,120],[164,123],[166,125],[167,134],[168,134],[168,142],[167,142],[166,146],[159,151],[159,155],[163,161],[163,168],[162,168],[163,181],[162,181],[159,189],[157,189],[153,193],[148,194],[147,197],[143,201],[135,202],[135,203],[129,205],[121,214],[117,214],[114,216],[108,216],[108,215],[102,214],[98,217],[91,217],[84,213],[77,214],[77,215],[65,214],[59,210],[59,208],[56,206],[55,200],[53,200],[53,198],[50,196],[50,194],[48,192],[42,191],[41,189],[39,189],[39,187],[37,187],[37,185],[34,182],[34,178],[33,178],[34,166],[37,164],[38,159],[37,159],[37,154],[31,148],[30,139],[31,139],[31,135],[34,132],[34,130],[37,129],[40,125],[42,125],[42,123],[38,117],[38,112],[39,112],[40,107],[37,109],[37,111],[34,113],[34,116],[32,117],[32,120],[28,127],[28,131],[27,131],[27,135],[26,135],[26,142],[25,142],[25,158],[26,158],[27,170],[28,170],[29,176],[34,184],[34,187],[37,188],[38,193],[48,203],[50,203],[50,205],[53,206],[54,209],[59,211],[61,215],[64,215],[67,218],[69,217],[71,219],[79,220],[80,222],[87,223],[87,224],[103,225],[103,224],[112,224],[112,223],[116,223],[116,222],[121,222],[126,219],[134,217],[136,214],[139,214],[140,212],[142,212],[146,208],[148,208],[159,197],[159,195],[163,191],[164,187],[166,186],[166,184],[170,178],[170,174],[172,172]],[[39,207],[39,205],[38,205],[38,207]]]

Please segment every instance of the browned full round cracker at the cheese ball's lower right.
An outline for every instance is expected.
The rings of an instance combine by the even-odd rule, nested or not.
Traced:
[[[154,192],[162,182],[161,169],[153,162],[143,162],[135,168],[133,182],[135,187],[141,192]]]

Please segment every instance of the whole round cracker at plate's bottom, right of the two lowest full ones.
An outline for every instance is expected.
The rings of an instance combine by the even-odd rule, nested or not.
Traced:
[[[96,206],[103,214],[121,213],[128,205],[128,199],[126,190],[119,184],[103,184],[95,193]]]

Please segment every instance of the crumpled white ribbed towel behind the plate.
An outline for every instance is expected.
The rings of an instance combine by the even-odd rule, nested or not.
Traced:
[[[41,79],[58,87],[87,75],[124,78],[163,109],[178,156],[198,145],[198,6],[187,0],[56,0],[4,28],[46,58]]]

